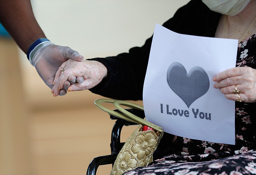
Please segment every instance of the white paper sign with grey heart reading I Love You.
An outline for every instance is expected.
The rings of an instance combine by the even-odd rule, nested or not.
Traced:
[[[174,135],[234,145],[235,102],[212,78],[235,67],[237,43],[156,24],[143,89],[147,120]]]

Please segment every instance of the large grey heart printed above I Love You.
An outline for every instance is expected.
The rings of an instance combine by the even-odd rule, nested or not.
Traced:
[[[184,66],[174,62],[168,68],[167,82],[174,93],[176,93],[188,106],[202,97],[210,87],[210,80],[203,68],[194,67],[187,73]]]

